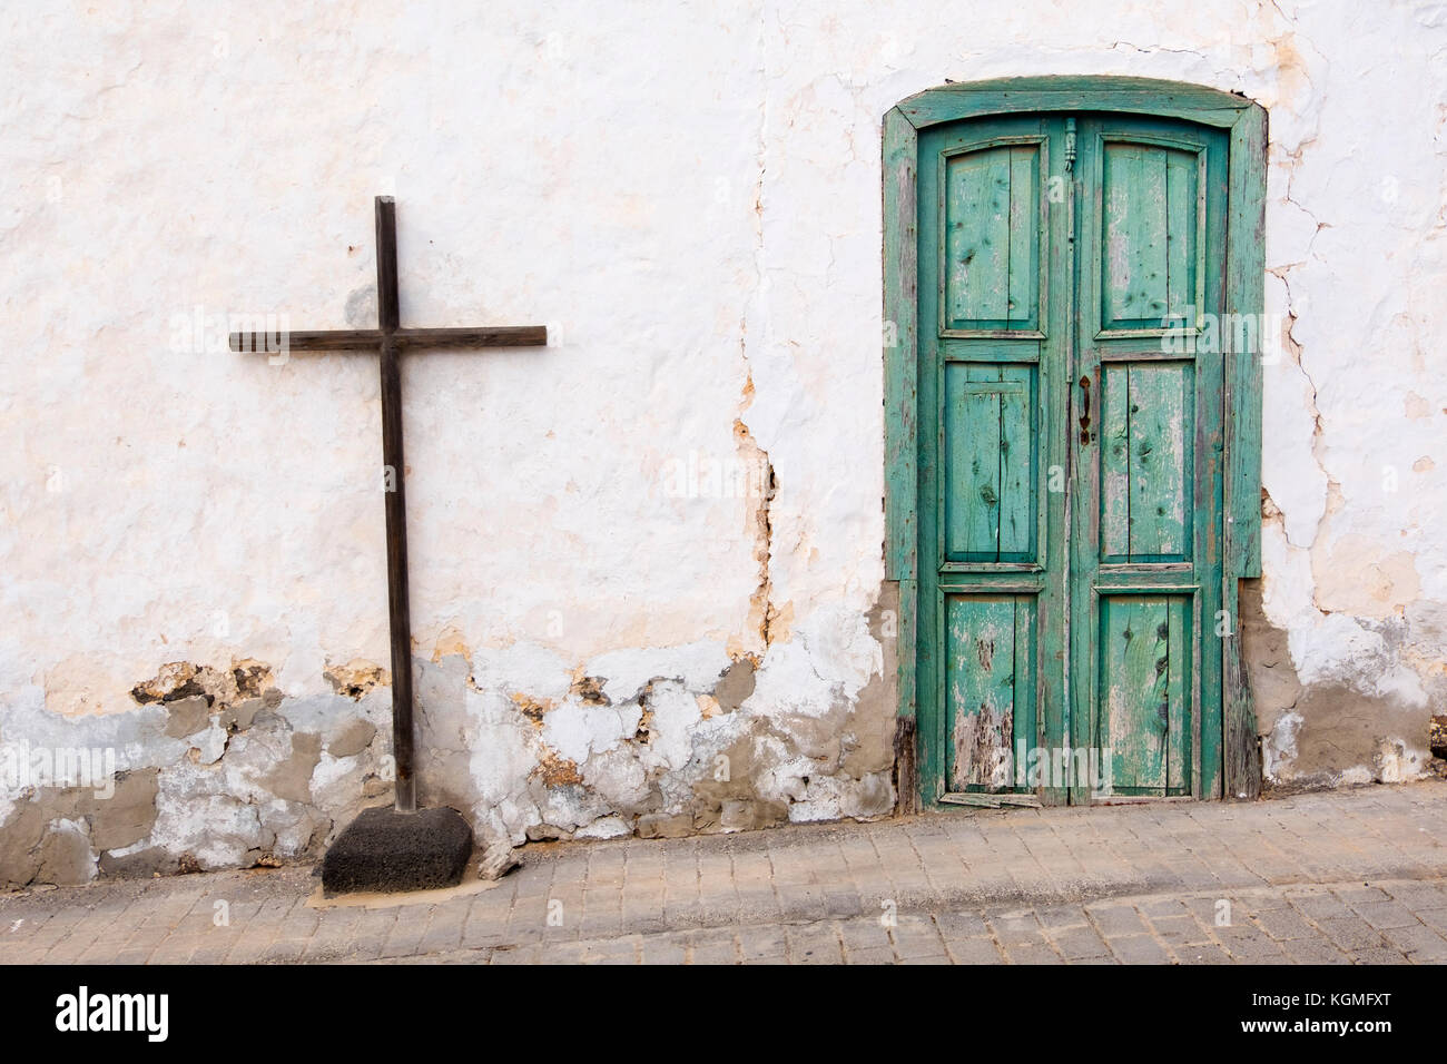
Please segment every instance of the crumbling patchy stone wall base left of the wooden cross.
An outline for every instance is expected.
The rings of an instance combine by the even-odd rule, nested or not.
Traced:
[[[271,675],[258,662],[178,662],[135,685],[129,712],[13,708],[0,725],[19,759],[0,793],[0,883],[315,856],[365,801],[389,793],[376,741],[388,691],[288,699]],[[45,786],[65,759],[80,759],[84,779],[68,770],[67,786]]]

